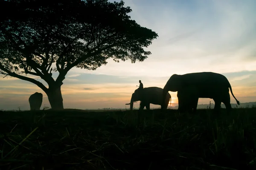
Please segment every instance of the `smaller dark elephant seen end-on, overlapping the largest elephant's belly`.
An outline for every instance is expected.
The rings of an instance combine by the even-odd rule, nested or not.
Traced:
[[[198,95],[195,87],[183,88],[182,90],[177,92],[178,97],[178,111],[189,113],[196,112],[196,108],[198,105]]]

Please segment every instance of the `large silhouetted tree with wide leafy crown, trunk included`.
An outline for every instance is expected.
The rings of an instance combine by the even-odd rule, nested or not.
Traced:
[[[158,37],[108,0],[0,0],[0,73],[32,82],[63,109],[61,85],[71,68],[96,70],[113,58],[131,62],[150,55],[143,47]],[[58,71],[57,79],[51,71]],[[41,82],[28,74],[44,79]]]

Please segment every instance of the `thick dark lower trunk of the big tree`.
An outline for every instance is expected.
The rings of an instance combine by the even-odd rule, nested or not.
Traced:
[[[64,109],[63,99],[61,94],[61,87],[49,88],[47,92],[47,96],[52,109],[54,110]]]

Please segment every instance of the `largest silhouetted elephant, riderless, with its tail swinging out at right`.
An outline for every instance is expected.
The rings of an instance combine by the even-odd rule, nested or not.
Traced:
[[[233,94],[230,82],[227,78],[218,73],[201,72],[201,73],[189,73],[183,75],[173,74],[167,81],[163,88],[163,99],[168,91],[180,91],[184,88],[194,87],[198,98],[210,98],[215,102],[215,111],[219,111],[221,108],[221,102],[227,108],[227,111],[231,111],[230,94],[236,99]],[[238,105],[240,102],[236,99]]]

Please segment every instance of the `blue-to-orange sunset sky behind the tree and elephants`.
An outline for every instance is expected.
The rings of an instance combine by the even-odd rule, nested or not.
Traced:
[[[111,0],[111,2],[113,2]],[[256,101],[255,0],[124,0],[129,13],[143,27],[157,32],[144,62],[119,63],[112,59],[96,71],[73,68],[61,90],[64,108],[128,108],[139,80],[144,88],[163,88],[172,74],[212,71],[230,81],[241,102]],[[54,73],[53,77],[57,77]],[[33,77],[33,76],[30,76]],[[40,78],[36,78],[44,82]],[[36,85],[17,78],[0,79],[0,109],[29,110],[29,96],[47,95]],[[172,106],[177,92],[169,92]],[[212,99],[200,98],[198,104]],[[231,103],[235,99],[231,96]],[[159,107],[159,105],[152,105]],[[139,107],[139,102],[134,105]]]

